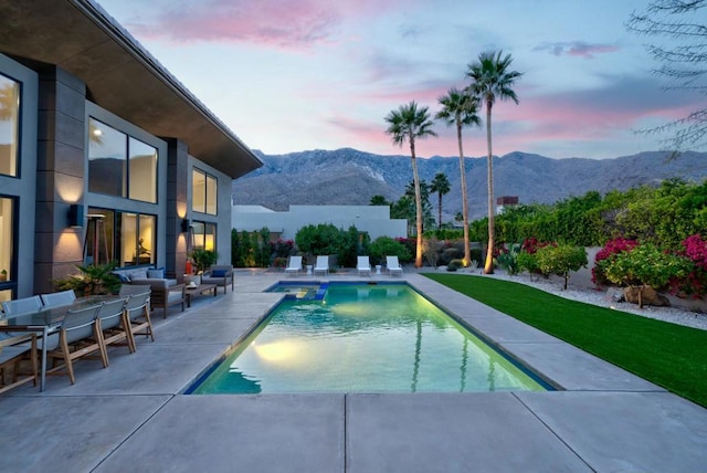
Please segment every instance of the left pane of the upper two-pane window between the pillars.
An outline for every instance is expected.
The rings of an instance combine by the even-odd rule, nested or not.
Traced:
[[[88,120],[88,190],[127,197],[127,135],[94,118]]]

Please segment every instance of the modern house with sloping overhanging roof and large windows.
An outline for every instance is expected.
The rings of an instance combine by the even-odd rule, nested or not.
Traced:
[[[0,3],[0,299],[75,265],[231,257],[231,181],[260,159],[89,0]]]

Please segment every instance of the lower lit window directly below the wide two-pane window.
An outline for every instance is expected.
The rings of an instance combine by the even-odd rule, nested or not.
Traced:
[[[88,209],[87,217],[85,263],[116,262],[118,266],[155,264],[157,241],[155,216]]]

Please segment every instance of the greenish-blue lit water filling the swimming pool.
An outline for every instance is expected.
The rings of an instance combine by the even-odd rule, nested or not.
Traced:
[[[188,393],[547,390],[407,284],[284,299]]]

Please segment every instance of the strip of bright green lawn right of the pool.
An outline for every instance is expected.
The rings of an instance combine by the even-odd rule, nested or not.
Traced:
[[[707,330],[597,307],[492,277],[424,275],[707,407]]]

